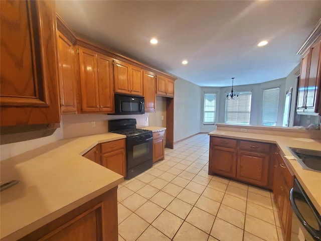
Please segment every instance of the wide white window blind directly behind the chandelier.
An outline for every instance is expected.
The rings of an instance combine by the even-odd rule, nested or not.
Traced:
[[[250,124],[251,91],[239,92],[238,99],[225,101],[225,123]]]

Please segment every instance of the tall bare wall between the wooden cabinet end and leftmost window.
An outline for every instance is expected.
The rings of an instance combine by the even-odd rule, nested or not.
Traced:
[[[201,87],[187,80],[175,81],[174,142],[200,132]]]

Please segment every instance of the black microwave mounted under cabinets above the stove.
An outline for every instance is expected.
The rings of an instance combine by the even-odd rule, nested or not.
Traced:
[[[115,94],[115,114],[143,114],[145,99],[143,96]]]

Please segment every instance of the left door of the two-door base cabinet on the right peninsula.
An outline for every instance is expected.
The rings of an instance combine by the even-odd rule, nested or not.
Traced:
[[[236,177],[236,150],[214,146],[211,149],[209,174],[221,174],[226,177]]]

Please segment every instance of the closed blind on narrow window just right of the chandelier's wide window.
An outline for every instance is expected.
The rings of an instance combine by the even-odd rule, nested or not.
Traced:
[[[279,94],[279,87],[263,90],[262,125],[276,125]]]

